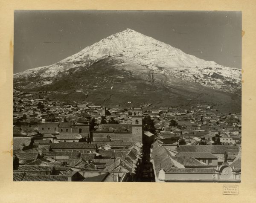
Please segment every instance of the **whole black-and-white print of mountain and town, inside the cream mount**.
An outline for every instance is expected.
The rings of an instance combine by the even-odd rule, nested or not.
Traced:
[[[239,11],[16,10],[13,181],[241,182]]]

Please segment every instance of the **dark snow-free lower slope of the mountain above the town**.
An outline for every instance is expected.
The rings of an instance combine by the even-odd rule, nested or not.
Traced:
[[[152,103],[155,106],[207,104],[227,112],[240,109],[241,97],[163,73],[155,74],[152,82],[148,70],[137,64],[125,64],[120,59],[105,58],[31,91],[50,91],[50,99],[64,102],[87,101],[109,107]]]

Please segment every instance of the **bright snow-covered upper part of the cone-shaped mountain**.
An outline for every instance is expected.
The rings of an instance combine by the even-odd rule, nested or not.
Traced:
[[[32,87],[50,84],[53,79],[88,68],[108,57],[128,64],[122,68],[129,69],[136,64],[139,69],[146,67],[148,71],[154,70],[154,74],[161,73],[167,77],[195,82],[217,90],[236,91],[241,88],[241,70],[188,55],[180,49],[131,29],[104,38],[56,64],[16,73],[14,79],[34,79]],[[131,71],[136,69],[131,68]],[[29,87],[31,88],[31,84],[27,86]]]

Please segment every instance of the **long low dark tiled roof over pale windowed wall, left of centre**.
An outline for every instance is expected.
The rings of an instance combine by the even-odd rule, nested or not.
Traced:
[[[39,145],[42,145],[39,143]],[[96,144],[88,144],[85,142],[60,142],[49,143],[52,149],[96,149]]]

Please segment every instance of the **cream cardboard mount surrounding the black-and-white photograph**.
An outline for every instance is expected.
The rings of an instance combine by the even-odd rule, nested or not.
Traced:
[[[58,183],[12,181],[13,17],[17,9],[228,10],[242,11],[242,175],[238,195],[223,195],[223,183]],[[0,202],[254,202],[256,4],[253,0],[44,0],[0,2]],[[241,33],[241,36],[242,36]],[[196,184],[196,185],[195,185]],[[227,185],[225,183],[225,185]]]

